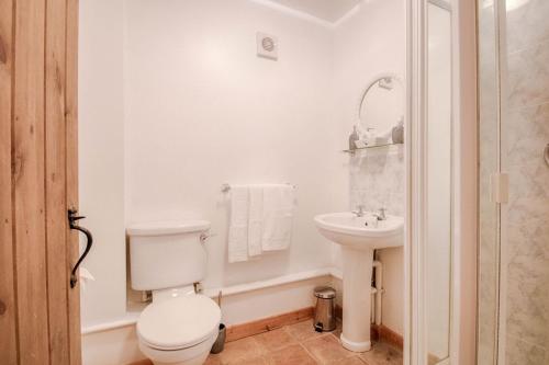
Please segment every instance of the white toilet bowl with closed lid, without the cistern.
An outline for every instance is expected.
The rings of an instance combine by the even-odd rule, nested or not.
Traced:
[[[137,321],[139,349],[155,365],[203,364],[220,321],[220,307],[200,294],[153,301]]]

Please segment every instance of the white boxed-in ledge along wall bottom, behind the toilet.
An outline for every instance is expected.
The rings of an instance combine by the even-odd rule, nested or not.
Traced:
[[[268,281],[267,287],[253,283],[237,290],[223,290],[222,321],[228,326],[245,323],[311,307],[315,303],[313,288],[332,282],[330,270],[324,269]],[[212,297],[216,293],[217,289],[205,290]],[[128,313],[119,321],[83,329],[82,364],[121,365],[144,360],[135,333],[137,317],[138,313]]]

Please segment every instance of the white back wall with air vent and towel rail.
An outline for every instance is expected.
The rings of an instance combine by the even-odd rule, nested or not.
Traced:
[[[329,30],[246,0],[133,0],[125,18],[126,220],[211,220],[206,287],[329,265],[313,225],[346,196]],[[256,56],[258,31],[278,36],[278,61]],[[220,186],[261,182],[298,185],[293,243],[228,264]]]

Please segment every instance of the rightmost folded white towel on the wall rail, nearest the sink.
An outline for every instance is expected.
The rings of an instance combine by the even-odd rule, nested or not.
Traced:
[[[264,186],[264,221],[261,248],[264,251],[285,250],[292,241],[293,186]]]

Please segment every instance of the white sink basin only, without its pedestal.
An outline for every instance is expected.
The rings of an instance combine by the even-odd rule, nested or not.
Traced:
[[[357,250],[402,246],[402,217],[386,215],[385,220],[372,217],[371,213],[357,217],[350,212],[343,212],[318,215],[314,217],[314,221],[322,236]]]

